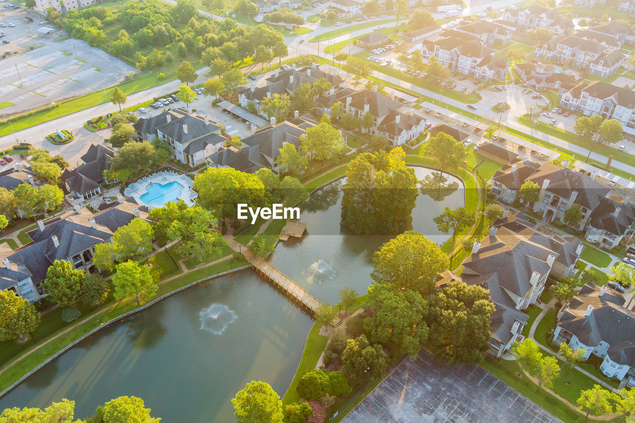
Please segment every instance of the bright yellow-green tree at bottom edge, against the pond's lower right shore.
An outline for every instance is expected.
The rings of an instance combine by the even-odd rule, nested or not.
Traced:
[[[252,380],[232,399],[239,423],[282,423],[282,401],[266,382]]]

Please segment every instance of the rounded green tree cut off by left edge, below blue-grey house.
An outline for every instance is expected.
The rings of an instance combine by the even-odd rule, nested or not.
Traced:
[[[39,325],[39,312],[33,304],[10,290],[0,290],[0,341],[24,338]]]

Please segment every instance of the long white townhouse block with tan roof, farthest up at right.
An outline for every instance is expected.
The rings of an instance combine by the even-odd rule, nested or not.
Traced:
[[[567,35],[558,36],[538,46],[533,57],[578,67],[604,78],[618,70],[625,59],[619,48],[609,50],[606,44],[598,41]]]

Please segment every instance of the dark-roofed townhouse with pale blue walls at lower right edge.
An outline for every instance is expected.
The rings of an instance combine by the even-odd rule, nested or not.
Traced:
[[[558,312],[554,342],[602,359],[599,370],[623,386],[635,386],[635,313],[621,293],[586,283]]]

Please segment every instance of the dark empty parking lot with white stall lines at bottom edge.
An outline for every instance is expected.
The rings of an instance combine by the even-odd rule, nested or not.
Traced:
[[[438,363],[423,349],[342,421],[561,422],[483,368]]]

